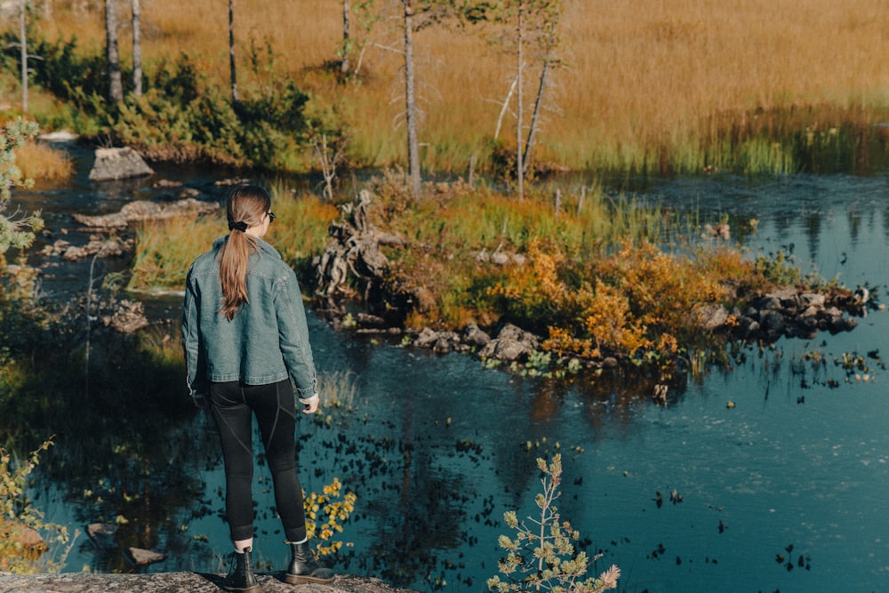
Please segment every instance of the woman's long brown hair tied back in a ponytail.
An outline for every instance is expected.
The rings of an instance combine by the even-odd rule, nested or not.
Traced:
[[[247,228],[258,227],[271,208],[272,200],[265,189],[244,185],[228,194],[228,241],[222,244],[217,260],[220,262],[222,309],[231,321],[237,309],[247,302],[247,262],[250,254],[259,249],[256,237],[247,235]]]

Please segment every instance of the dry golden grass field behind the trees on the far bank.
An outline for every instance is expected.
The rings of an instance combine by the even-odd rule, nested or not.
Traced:
[[[238,0],[239,82],[249,84],[252,76],[248,40],[268,39],[283,73],[349,117],[356,130],[352,148],[364,162],[403,160],[403,133],[396,127],[403,109],[400,58],[380,47],[398,44],[391,28],[397,22],[373,30],[379,46],[364,55],[362,84],[336,84],[320,67],[334,59],[341,39],[340,6],[334,0]],[[102,43],[98,9],[88,17],[61,9],[55,14],[54,22],[42,25],[51,35],[77,30],[81,40]],[[553,108],[540,141],[548,156],[574,168],[632,162],[653,146],[696,145],[714,132],[713,116],[743,122],[757,108],[889,107],[889,10],[882,0],[565,0],[562,22],[567,65],[554,76]],[[147,0],[143,30],[147,67],[188,52],[226,84],[225,3]],[[130,42],[122,33],[126,60]],[[470,155],[490,149],[498,101],[514,76],[513,57],[487,42],[491,33],[490,27],[438,27],[415,36],[421,154],[428,166],[459,170]],[[534,76],[532,68],[529,112]],[[514,135],[514,126],[508,117],[503,137]]]

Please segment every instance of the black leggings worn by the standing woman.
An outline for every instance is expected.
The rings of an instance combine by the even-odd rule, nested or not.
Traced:
[[[289,380],[268,385],[238,381],[210,386],[213,419],[219,429],[225,459],[226,517],[231,539],[253,537],[252,414],[260,425],[268,469],[275,485],[275,502],[288,541],[306,537],[302,486],[296,477],[296,408]]]

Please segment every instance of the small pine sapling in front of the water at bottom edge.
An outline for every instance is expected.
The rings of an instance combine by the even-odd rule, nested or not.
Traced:
[[[501,535],[499,543],[507,550],[501,559],[499,576],[488,579],[488,589],[500,591],[566,591],[576,593],[599,593],[617,589],[621,569],[612,565],[598,578],[584,576],[589,568],[589,557],[584,551],[576,552],[574,542],[580,535],[567,521],[560,522],[556,501],[562,493],[558,490],[562,482],[562,456],[556,454],[547,465],[538,458],[537,467],[543,472],[541,484],[543,492],[534,498],[541,509],[540,518],[528,517],[531,526],[519,521],[516,511],[503,514],[503,520],[515,529],[515,540]],[[593,558],[596,560],[597,557]]]

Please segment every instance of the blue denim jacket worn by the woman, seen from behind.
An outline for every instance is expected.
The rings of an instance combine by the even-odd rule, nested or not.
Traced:
[[[306,311],[296,275],[262,239],[247,272],[248,302],[231,321],[220,313],[222,285],[217,261],[228,236],[198,257],[185,287],[182,348],[192,397],[206,395],[209,381],[266,385],[290,377],[298,397],[316,395],[317,375],[308,342]]]

